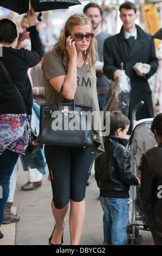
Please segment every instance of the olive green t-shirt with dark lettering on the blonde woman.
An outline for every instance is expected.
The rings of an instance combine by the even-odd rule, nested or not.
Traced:
[[[59,102],[60,94],[51,86],[49,80],[51,78],[66,75],[61,58],[54,51],[46,53],[43,59],[42,70],[44,74],[45,96],[47,103]],[[75,92],[75,103],[90,105],[93,111],[98,112],[98,126],[101,131],[101,120],[99,112],[98,95],[96,92],[96,81],[89,70],[88,64],[85,62],[81,68],[77,67],[77,87]],[[61,98],[61,102],[71,102],[70,100]],[[96,117],[96,115],[95,115]],[[99,142],[98,148],[101,153],[104,152],[103,140],[100,134],[96,135],[94,141]],[[100,153],[100,154],[101,154]]]

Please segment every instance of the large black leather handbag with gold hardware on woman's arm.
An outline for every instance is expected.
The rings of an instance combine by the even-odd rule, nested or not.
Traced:
[[[37,142],[63,147],[90,147],[93,144],[92,106],[61,103],[43,103],[40,106],[40,134]]]

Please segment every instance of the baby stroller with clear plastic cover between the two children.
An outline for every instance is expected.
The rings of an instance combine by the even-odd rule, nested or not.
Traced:
[[[131,152],[131,168],[135,176],[140,176],[140,162],[142,154],[150,148],[156,147],[157,142],[150,130],[153,118],[141,119],[135,121],[135,115],[138,109],[144,104],[139,102],[133,109],[132,125],[133,130],[129,137],[127,147]],[[129,207],[129,225],[127,228],[127,245],[142,245],[142,236],[139,230],[150,231],[147,225],[147,219],[142,208],[142,200],[140,198],[140,187],[131,186],[130,191],[130,207]]]

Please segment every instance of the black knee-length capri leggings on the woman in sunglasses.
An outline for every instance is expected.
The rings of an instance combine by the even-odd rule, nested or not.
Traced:
[[[85,198],[97,147],[95,142],[87,148],[45,146],[55,208],[64,208],[69,199],[81,202]]]

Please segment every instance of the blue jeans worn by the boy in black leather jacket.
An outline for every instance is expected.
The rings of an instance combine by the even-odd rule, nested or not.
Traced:
[[[129,198],[101,197],[103,245],[125,245],[129,220]]]

